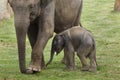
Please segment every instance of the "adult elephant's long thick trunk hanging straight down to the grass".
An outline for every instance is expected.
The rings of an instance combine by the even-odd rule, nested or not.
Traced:
[[[15,20],[15,29],[18,44],[18,58],[21,73],[26,73],[25,48],[28,22],[24,20]]]

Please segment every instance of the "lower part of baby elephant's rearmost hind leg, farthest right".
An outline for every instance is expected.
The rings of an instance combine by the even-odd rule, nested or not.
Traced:
[[[91,51],[89,58],[90,58],[89,71],[96,72],[97,71],[97,62],[96,62],[96,51],[95,50]]]

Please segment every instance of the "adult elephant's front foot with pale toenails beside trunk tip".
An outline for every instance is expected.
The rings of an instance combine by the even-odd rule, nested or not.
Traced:
[[[33,66],[30,65],[27,70],[26,70],[26,74],[34,74],[34,73],[38,73],[41,71],[41,67],[40,66]]]

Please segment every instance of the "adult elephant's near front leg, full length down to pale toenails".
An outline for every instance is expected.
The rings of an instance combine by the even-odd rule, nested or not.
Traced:
[[[40,72],[44,64],[43,50],[47,44],[49,38],[52,37],[54,32],[54,0],[43,7],[40,19],[39,19],[39,31],[37,41],[32,50],[31,63],[28,71],[31,73]],[[29,73],[28,72],[28,73]]]

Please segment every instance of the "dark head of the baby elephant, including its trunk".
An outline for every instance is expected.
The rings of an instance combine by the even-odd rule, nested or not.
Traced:
[[[50,60],[48,61],[46,66],[52,62],[54,53],[56,52],[56,55],[58,55],[62,51],[64,46],[65,46],[64,36],[56,35],[52,41]]]

